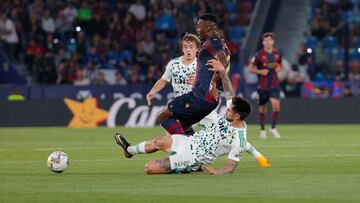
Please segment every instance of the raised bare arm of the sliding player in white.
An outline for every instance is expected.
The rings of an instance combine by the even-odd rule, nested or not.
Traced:
[[[215,59],[211,59],[207,62],[206,65],[212,66],[211,68],[209,68],[209,70],[211,71],[215,71],[218,72],[221,78],[221,83],[224,87],[224,90],[226,92],[226,100],[229,100],[231,98],[234,97],[234,90],[232,88],[232,84],[230,81],[229,76],[226,73],[226,69],[223,65],[223,63],[215,60]]]

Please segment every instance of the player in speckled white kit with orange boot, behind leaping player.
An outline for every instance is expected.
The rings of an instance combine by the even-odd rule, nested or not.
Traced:
[[[193,85],[193,77],[196,74],[196,52],[200,47],[200,39],[194,34],[185,34],[181,40],[183,55],[170,60],[166,65],[165,73],[159,79],[150,92],[146,95],[148,105],[151,105],[151,100],[156,93],[161,91],[165,85],[171,82],[175,97],[181,96],[191,91]],[[203,118],[199,123],[205,127],[208,120],[216,116],[215,110]],[[187,135],[192,135],[195,132],[192,128],[184,132]],[[170,134],[168,134],[170,135]],[[265,161],[263,157],[250,143],[246,144],[246,152],[251,154],[260,166],[269,166],[269,162]]]

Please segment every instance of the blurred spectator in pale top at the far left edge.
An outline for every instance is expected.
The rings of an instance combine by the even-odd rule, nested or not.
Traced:
[[[14,22],[0,13],[0,39],[5,42],[7,50],[15,57],[18,55],[19,38]]]

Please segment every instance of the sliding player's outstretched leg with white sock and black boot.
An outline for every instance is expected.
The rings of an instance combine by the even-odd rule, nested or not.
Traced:
[[[172,145],[171,136],[159,137],[136,145],[130,145],[130,143],[122,135],[116,134],[115,141],[123,148],[124,155],[127,158],[131,158],[135,154],[154,153],[158,150],[170,153]]]

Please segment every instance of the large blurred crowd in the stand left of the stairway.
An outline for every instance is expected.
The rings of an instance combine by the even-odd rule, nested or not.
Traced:
[[[181,54],[181,36],[194,33],[206,12],[219,17],[236,63],[253,6],[253,0],[6,1],[1,48],[40,84],[154,83]]]

